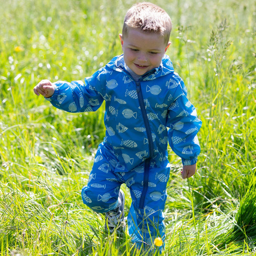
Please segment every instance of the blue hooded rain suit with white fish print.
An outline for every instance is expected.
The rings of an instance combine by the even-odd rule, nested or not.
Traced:
[[[96,111],[105,101],[106,136],[99,145],[84,204],[99,213],[117,206],[121,184],[130,189],[128,230],[134,242],[165,237],[164,205],[170,166],[167,145],[183,165],[197,162],[201,121],[183,80],[164,55],[161,65],[134,81],[123,55],[82,81],[55,83],[48,99],[69,112]]]

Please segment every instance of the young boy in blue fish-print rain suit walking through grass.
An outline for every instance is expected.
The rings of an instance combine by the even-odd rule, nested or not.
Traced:
[[[167,144],[181,157],[182,177],[196,172],[201,121],[174,73],[166,50],[171,19],[152,3],[133,5],[119,35],[123,55],[82,81],[43,80],[34,88],[53,106],[69,112],[95,111],[105,100],[106,136],[99,145],[84,204],[106,213],[110,232],[124,225],[124,194],[130,189],[129,234],[138,246],[165,238],[164,205],[169,178]],[[125,227],[121,227],[125,228]]]

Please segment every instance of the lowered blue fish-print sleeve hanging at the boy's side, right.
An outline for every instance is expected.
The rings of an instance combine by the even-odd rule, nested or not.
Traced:
[[[168,108],[168,141],[173,152],[180,156],[183,165],[192,165],[197,162],[200,154],[197,133],[202,122],[197,117],[195,107],[187,99],[187,90],[182,80],[179,85],[180,90],[176,89],[175,100]]]

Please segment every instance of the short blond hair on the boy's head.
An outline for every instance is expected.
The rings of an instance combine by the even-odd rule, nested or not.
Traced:
[[[159,33],[164,37],[166,45],[171,34],[171,18],[161,7],[150,2],[140,2],[128,9],[123,21],[123,37],[127,36],[129,28],[140,28],[145,32]]]

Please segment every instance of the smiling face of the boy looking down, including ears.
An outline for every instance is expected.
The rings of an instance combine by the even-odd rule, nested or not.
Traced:
[[[130,28],[128,35],[119,35],[126,65],[137,75],[158,68],[162,57],[171,45],[157,33],[143,32],[138,28]]]

